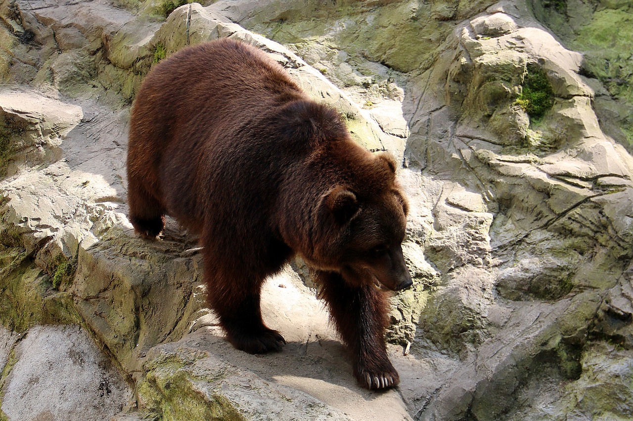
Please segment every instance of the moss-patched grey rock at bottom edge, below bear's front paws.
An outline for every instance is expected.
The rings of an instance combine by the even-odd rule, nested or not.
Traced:
[[[307,394],[270,384],[198,349],[154,348],[140,387],[141,405],[176,419],[349,420]]]

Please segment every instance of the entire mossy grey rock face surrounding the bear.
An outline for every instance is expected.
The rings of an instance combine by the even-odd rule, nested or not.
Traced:
[[[632,80],[628,44],[597,35],[633,11],[594,3],[239,0],[162,21],[149,1],[3,0],[4,417],[633,417]],[[263,293],[288,344],[255,357],[204,308],[196,239],[173,221],[161,241],[132,232],[135,90],[217,37],[269,52],[359,142],[402,160],[415,284],[392,300],[397,389],[354,383],[300,261]]]

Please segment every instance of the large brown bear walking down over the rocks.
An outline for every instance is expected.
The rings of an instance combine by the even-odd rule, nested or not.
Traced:
[[[399,382],[385,350],[385,290],[411,285],[395,169],[277,62],[235,40],[161,61],[132,107],[130,221],[155,238],[168,214],[200,236],[227,340],[249,353],[280,350],[284,338],[261,319],[261,285],[300,255],[370,389]]]

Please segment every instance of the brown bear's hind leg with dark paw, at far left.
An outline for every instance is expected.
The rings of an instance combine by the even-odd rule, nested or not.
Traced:
[[[142,237],[153,240],[165,228],[165,210],[156,198],[133,179],[128,180],[130,223]]]

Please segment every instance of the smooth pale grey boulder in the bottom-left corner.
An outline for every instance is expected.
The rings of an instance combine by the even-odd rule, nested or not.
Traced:
[[[78,326],[36,326],[15,346],[3,373],[8,419],[105,420],[132,397],[110,361]]]

